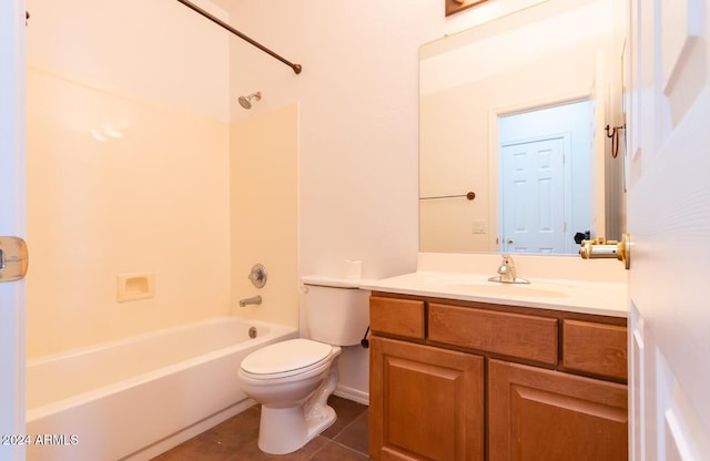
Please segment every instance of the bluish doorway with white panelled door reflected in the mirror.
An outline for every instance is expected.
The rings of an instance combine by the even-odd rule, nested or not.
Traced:
[[[503,253],[577,254],[591,226],[589,100],[498,117]]]

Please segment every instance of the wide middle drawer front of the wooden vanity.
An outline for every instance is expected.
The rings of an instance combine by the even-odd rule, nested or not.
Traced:
[[[429,304],[429,339],[557,365],[557,319]]]

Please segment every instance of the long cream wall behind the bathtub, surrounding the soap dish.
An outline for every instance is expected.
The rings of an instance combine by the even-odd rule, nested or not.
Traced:
[[[173,0],[27,8],[28,357],[226,314],[227,38]],[[118,303],[133,273],[154,297]]]

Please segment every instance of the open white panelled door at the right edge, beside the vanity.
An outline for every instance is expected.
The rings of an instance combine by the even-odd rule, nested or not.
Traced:
[[[630,10],[631,459],[710,460],[710,1]]]

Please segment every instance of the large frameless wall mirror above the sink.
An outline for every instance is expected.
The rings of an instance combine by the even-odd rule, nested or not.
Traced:
[[[626,227],[623,6],[547,0],[419,49],[419,249],[577,254]]]

